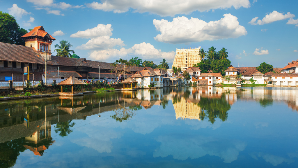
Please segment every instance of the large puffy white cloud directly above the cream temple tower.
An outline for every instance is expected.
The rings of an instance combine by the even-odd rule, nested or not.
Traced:
[[[238,18],[229,13],[224,14],[224,18],[209,23],[182,16],[174,18],[173,22],[154,19],[153,25],[160,32],[154,38],[156,41],[173,44],[237,38],[247,33],[246,29],[239,25]]]

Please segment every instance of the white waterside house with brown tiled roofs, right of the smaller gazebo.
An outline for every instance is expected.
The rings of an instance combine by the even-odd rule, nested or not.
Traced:
[[[150,67],[145,67],[142,71],[136,72],[131,77],[138,81],[138,87],[148,87],[150,84],[155,83],[155,87],[162,88],[162,76],[164,76],[164,74],[162,74],[161,70],[154,70]]]

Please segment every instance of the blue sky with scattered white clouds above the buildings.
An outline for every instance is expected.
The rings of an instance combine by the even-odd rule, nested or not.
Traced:
[[[28,30],[43,26],[81,58],[139,57],[171,66],[176,48],[226,48],[234,67],[298,59],[298,1],[0,0],[0,10]]]

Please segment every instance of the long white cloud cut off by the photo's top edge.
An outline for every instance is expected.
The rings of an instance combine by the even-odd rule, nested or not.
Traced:
[[[212,9],[227,9],[232,6],[235,9],[240,7],[248,8],[250,3],[249,0],[105,0],[103,3],[92,2],[86,4],[86,6],[97,10],[113,11],[114,13],[127,12],[131,8],[134,12],[139,13],[149,12],[160,16],[175,16],[176,14],[189,14],[194,11],[204,12]]]

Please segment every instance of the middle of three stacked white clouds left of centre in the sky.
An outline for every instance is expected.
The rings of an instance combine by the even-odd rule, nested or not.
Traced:
[[[110,38],[110,36],[100,36],[90,39],[86,44],[80,45],[77,49],[81,50],[104,50],[106,48],[113,48],[114,46],[124,46],[121,39]]]

